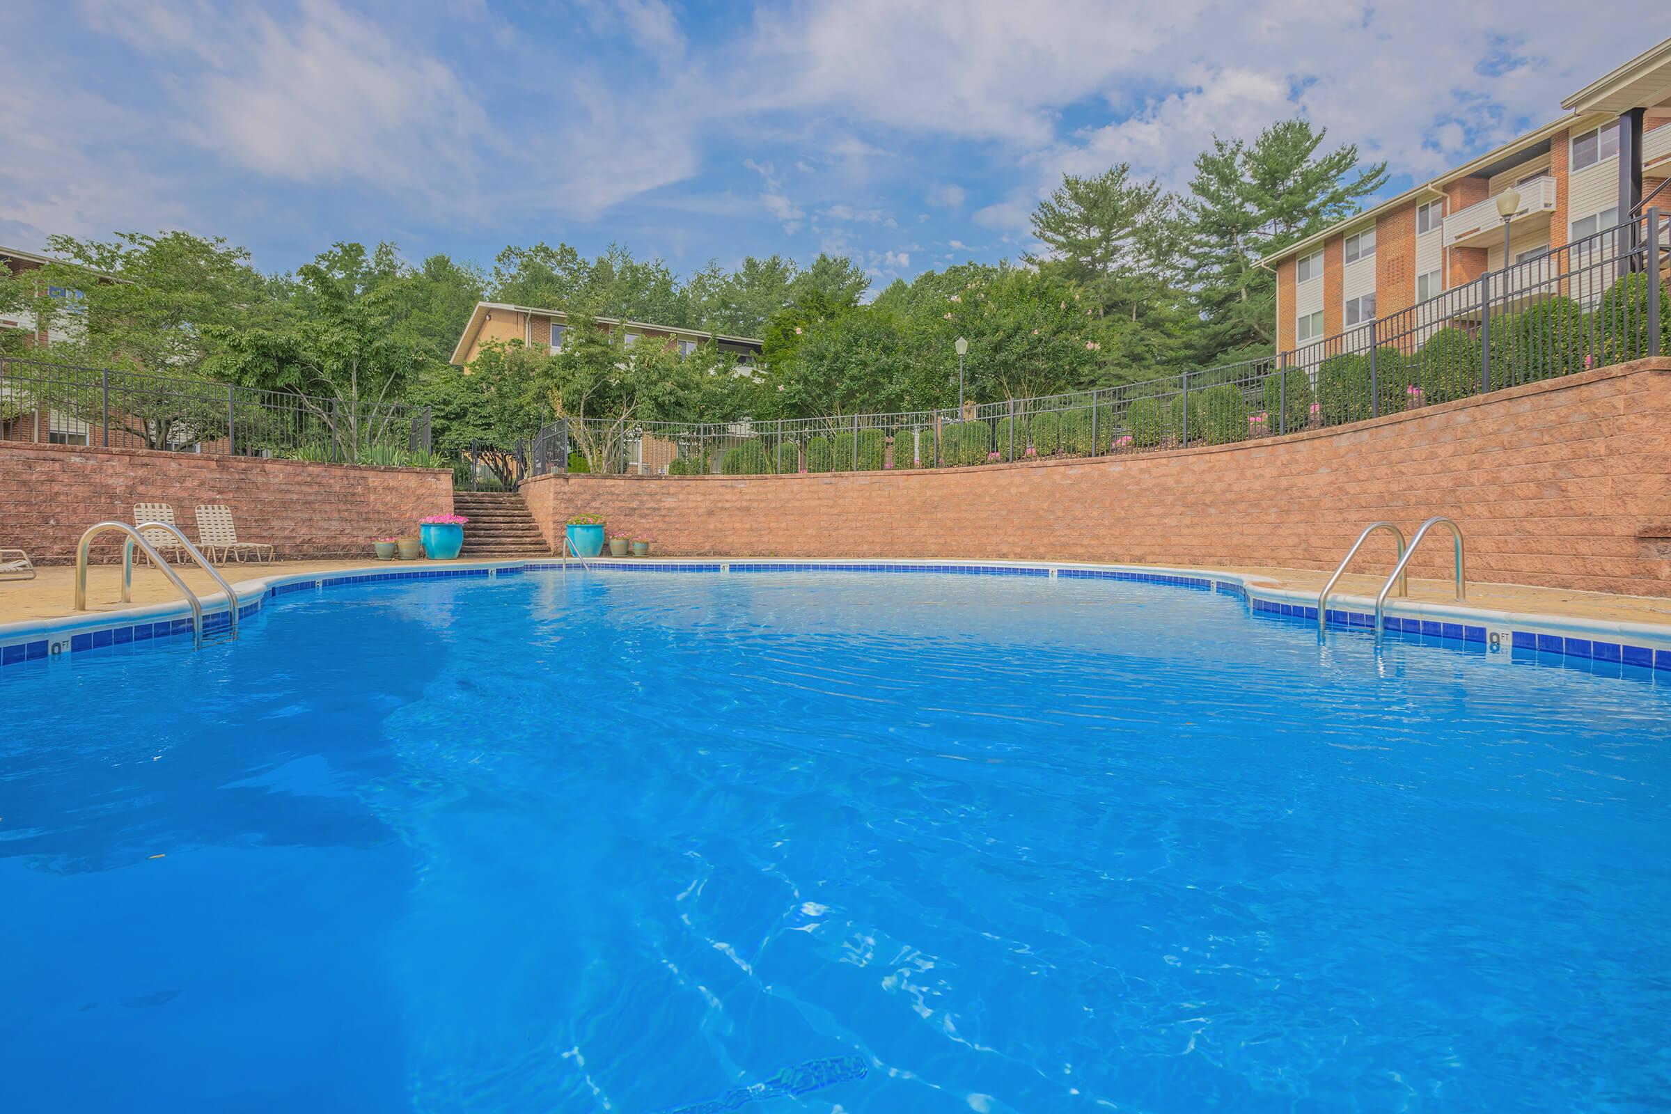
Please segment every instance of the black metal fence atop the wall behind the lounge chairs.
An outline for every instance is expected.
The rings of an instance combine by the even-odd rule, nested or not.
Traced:
[[[429,411],[0,359],[0,441],[359,464],[436,464]]]

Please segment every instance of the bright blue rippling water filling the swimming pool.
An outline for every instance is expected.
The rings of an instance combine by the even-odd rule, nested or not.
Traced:
[[[353,586],[172,641],[0,673],[7,1112],[1671,1094],[1646,673],[926,575]]]

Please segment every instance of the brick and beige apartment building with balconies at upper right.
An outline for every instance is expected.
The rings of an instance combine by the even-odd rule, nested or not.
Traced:
[[[1469,284],[1477,297],[1481,276],[1506,266],[1514,271],[1492,279],[1491,297],[1512,297],[1516,282],[1546,281],[1547,266],[1574,266],[1561,252],[1569,244],[1592,244],[1586,237],[1651,205],[1671,212],[1671,189],[1654,194],[1671,177],[1671,38],[1562,107],[1567,115],[1263,259],[1277,272],[1277,349]],[[1509,204],[1509,190],[1519,202],[1506,249],[1499,200]],[[1597,269],[1597,289],[1606,281]]]

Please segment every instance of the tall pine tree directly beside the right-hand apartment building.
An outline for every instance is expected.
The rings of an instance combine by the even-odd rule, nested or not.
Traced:
[[[1387,164],[1360,167],[1350,144],[1318,155],[1325,135],[1307,120],[1282,120],[1252,144],[1215,137],[1195,160],[1175,235],[1201,317],[1200,362],[1268,354],[1277,277],[1258,261],[1352,215],[1385,185]]]

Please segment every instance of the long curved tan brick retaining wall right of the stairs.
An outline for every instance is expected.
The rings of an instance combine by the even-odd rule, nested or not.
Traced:
[[[1671,596],[1671,361],[1260,443],[983,468],[817,476],[541,476],[570,514],[660,554],[1061,558],[1333,568],[1359,529],[1455,518],[1474,580]],[[1658,531],[1658,533],[1656,533]],[[1374,556],[1385,565],[1387,543]],[[1430,549],[1427,546],[1432,546]],[[1429,538],[1412,566],[1449,575]]]

